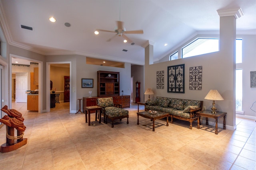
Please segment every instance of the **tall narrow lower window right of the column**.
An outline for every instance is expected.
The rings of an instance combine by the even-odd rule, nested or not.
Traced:
[[[243,97],[243,70],[236,70],[236,110],[242,111]]]

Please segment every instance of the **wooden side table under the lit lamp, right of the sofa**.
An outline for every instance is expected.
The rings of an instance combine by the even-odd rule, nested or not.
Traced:
[[[201,121],[200,117],[206,117],[206,125],[208,125],[208,117],[214,118],[216,120],[215,134],[218,135],[218,119],[223,117],[223,129],[226,129],[226,112],[216,111],[216,114],[212,114],[211,110],[203,110],[196,112],[197,114],[197,129],[200,129]]]

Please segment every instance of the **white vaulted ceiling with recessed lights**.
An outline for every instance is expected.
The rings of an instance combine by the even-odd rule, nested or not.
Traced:
[[[144,64],[148,41],[158,61],[196,34],[219,33],[217,10],[236,8],[244,13],[236,21],[237,33],[256,34],[256,0],[1,0],[0,19],[8,43],[17,47],[43,55],[80,54]],[[94,35],[96,29],[114,31],[119,19],[126,31],[144,30],[126,34],[134,45],[123,43],[123,37],[107,42],[114,36],[110,32]]]

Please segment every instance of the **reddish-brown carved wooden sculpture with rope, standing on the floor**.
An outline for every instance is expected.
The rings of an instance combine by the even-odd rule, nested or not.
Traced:
[[[23,123],[22,113],[15,109],[8,109],[8,106],[2,107],[1,110],[7,115],[0,119],[0,122],[6,125],[6,143],[1,145],[0,152],[10,152],[26,145],[27,139],[23,139],[26,126]],[[17,137],[14,136],[14,128],[17,129]]]

